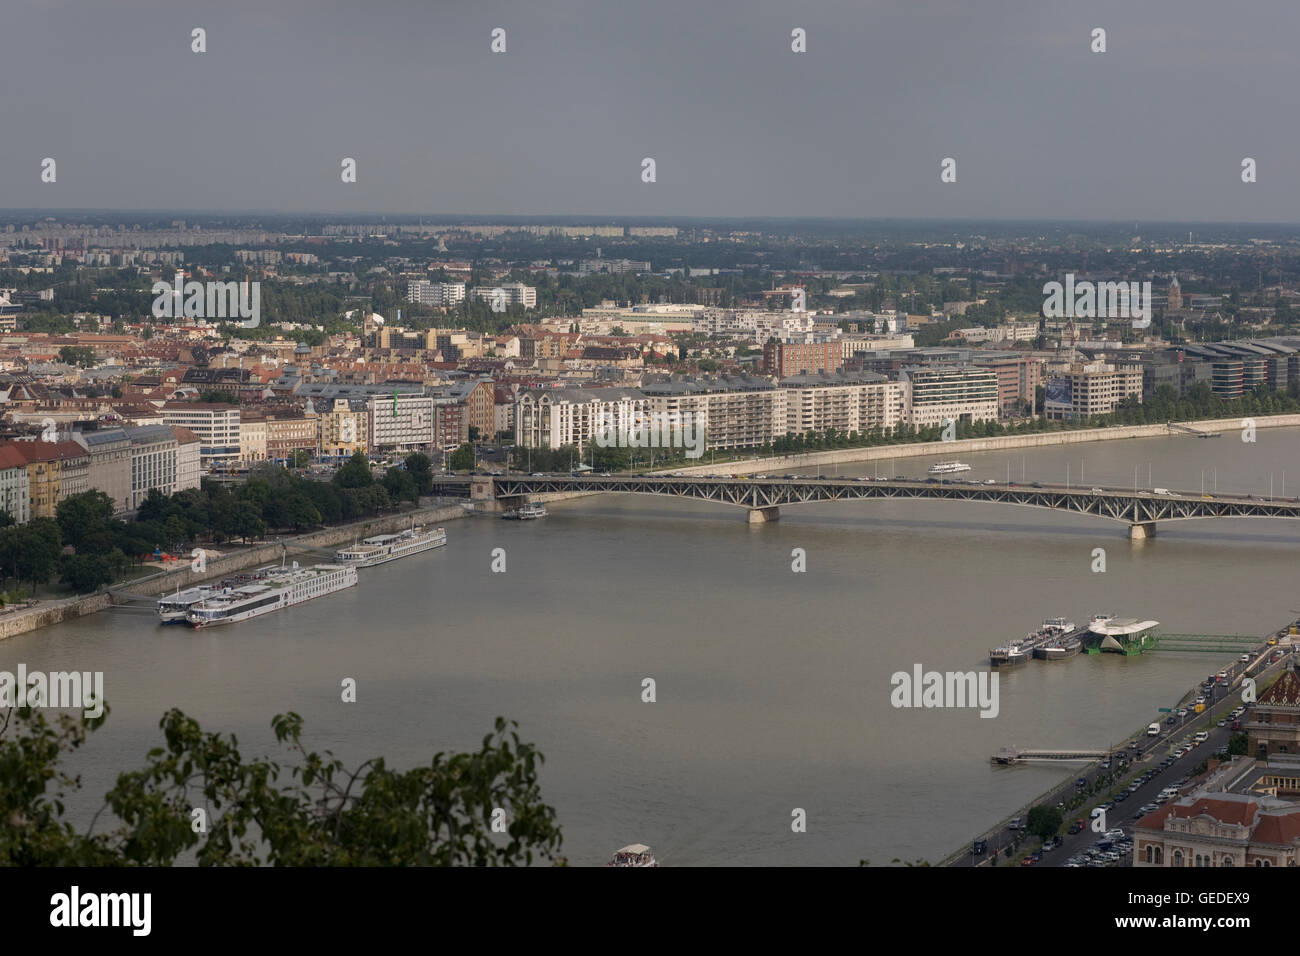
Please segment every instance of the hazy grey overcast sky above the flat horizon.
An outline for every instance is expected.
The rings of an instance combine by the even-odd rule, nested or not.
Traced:
[[[4,0],[0,23],[3,208],[1300,221],[1296,0]]]

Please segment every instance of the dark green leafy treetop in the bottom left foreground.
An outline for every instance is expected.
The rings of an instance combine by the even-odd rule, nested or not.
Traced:
[[[164,714],[162,745],[140,770],[121,773],[103,810],[120,821],[84,832],[66,818],[65,799],[81,778],[61,758],[86,744],[101,717],[34,708],[6,709],[0,722],[0,865],[168,866],[191,856],[200,866],[519,866],[563,865],[555,810],[541,800],[543,757],[498,718],[472,753],[439,752],[407,771],[382,757],[344,769],[308,752],[303,719],[280,714],[276,739],[292,760],[246,760],[234,736],[204,734],[179,710]],[[51,792],[52,791],[52,792]],[[208,827],[191,826],[204,805]],[[506,832],[493,832],[504,810]]]

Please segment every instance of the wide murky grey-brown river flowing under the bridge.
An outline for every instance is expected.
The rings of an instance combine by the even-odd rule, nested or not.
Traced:
[[[1131,488],[1136,468],[1143,486],[1196,493],[1204,470],[1208,490],[1261,496],[1270,475],[1280,494],[1286,472],[1300,494],[1292,428],[1253,444],[1225,432],[962,460],[975,479],[1063,483],[1069,467],[1071,483]],[[1069,773],[993,767],[997,749],[1119,743],[1226,658],[1032,662],[1001,676],[996,719],[896,709],[894,671],[987,667],[989,646],[1054,615],[1264,635],[1300,607],[1300,527],[1284,520],[1162,523],[1131,542],[1121,523],[992,503],[802,505],[766,525],[671,498],[549,507],[540,522],[451,522],[443,549],[229,628],[112,610],[21,635],[0,643],[0,670],[105,672],[112,715],[70,763],[87,782],[77,819],[159,744],[172,706],[235,732],[246,753],[274,753],[272,715],[296,710],[311,747],[395,766],[472,749],[500,714],[546,756],[542,793],[571,864],[638,842],[662,865],[879,865],[937,861]],[[503,574],[490,570],[497,548]],[[1104,574],[1091,570],[1097,548]],[[792,830],[796,808],[806,832]]]

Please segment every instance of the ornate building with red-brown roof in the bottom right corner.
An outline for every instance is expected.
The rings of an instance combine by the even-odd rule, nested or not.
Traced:
[[[1295,866],[1300,806],[1253,793],[1182,797],[1138,821],[1134,866]]]

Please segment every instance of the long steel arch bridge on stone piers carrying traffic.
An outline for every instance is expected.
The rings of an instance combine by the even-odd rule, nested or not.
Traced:
[[[1093,515],[1128,524],[1132,538],[1154,537],[1157,522],[1195,518],[1300,518],[1300,501],[1264,501],[1249,496],[1156,494],[1065,485],[942,484],[939,480],[866,477],[738,477],[719,475],[476,475],[436,476],[433,494],[495,501],[517,507],[532,496],[660,494],[698,498],[748,509],[751,523],[776,520],[783,505],[862,498],[935,498],[983,501]]]

